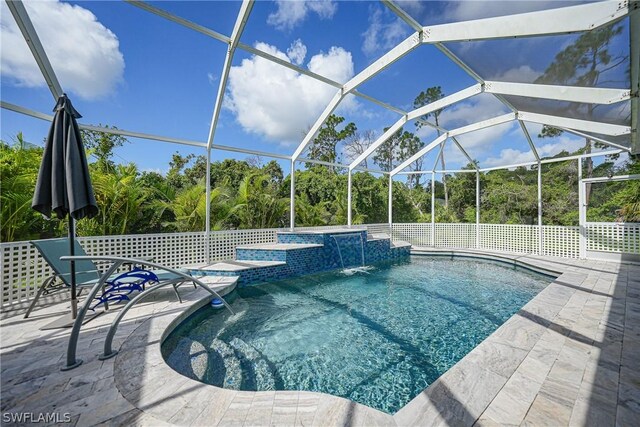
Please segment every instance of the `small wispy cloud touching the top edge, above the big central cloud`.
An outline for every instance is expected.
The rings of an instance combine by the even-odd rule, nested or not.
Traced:
[[[330,19],[338,9],[331,0],[276,0],[276,6],[277,10],[267,17],[267,23],[282,31],[290,31],[304,22],[310,12],[321,19]]]

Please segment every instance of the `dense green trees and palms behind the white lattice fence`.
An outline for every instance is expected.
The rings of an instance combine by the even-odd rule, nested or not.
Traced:
[[[351,146],[357,129],[332,117],[310,147],[311,159],[332,161],[340,146]],[[399,130],[374,165],[389,170],[420,148],[411,132]],[[113,149],[126,139],[110,134],[85,135],[90,171],[100,213],[78,222],[79,235],[202,231],[206,222],[206,161],[204,156],[173,155],[166,174],[140,171],[135,164],[116,164]],[[369,143],[372,141],[369,138]],[[352,148],[355,157],[367,143]],[[395,160],[385,154],[393,151]],[[43,218],[31,209],[42,148],[28,144],[21,134],[0,144],[2,176],[2,241],[44,238],[64,233],[66,223]],[[347,150],[340,149],[340,152]],[[576,153],[584,151],[578,150]],[[560,153],[559,156],[576,153]],[[594,167],[594,176],[640,173],[640,161],[616,159]],[[474,169],[473,164],[466,169]],[[537,169],[519,167],[480,173],[480,221],[500,224],[537,223]],[[227,159],[211,165],[210,219],[213,230],[287,227],[290,177],[277,162]],[[353,174],[353,223],[388,221],[388,177],[369,172]],[[435,182],[437,222],[475,222],[476,173],[447,175],[447,195]],[[578,222],[577,161],[543,164],[543,222]],[[431,221],[431,181],[393,182],[394,222]],[[640,221],[640,182],[612,182],[594,186],[590,221]],[[446,202],[445,202],[446,200]],[[347,175],[344,169],[308,163],[296,172],[296,225],[339,225],[347,222]]]

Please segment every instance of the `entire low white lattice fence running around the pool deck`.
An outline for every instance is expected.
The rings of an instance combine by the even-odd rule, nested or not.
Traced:
[[[298,230],[337,229],[344,226],[306,227]],[[416,246],[433,246],[431,224],[367,224],[370,233],[388,233],[393,240],[403,240]],[[212,261],[232,259],[239,245],[272,243],[276,229],[233,230],[211,233]],[[578,227],[542,227],[542,254],[578,258],[580,232]],[[475,224],[436,224],[435,246],[474,248]],[[82,237],[78,239],[90,255],[119,255],[131,258],[152,257],[169,267],[205,261],[204,233],[139,234],[126,236]],[[2,271],[2,307],[29,300],[42,280],[52,274],[49,266],[29,242],[3,243],[0,270]],[[529,225],[480,225],[480,248],[516,253],[538,253],[538,227]],[[587,226],[587,249],[617,253],[640,253],[640,224],[602,224]]]

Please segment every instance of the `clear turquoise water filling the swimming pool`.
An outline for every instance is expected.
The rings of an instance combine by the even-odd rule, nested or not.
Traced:
[[[238,390],[307,390],[394,413],[552,278],[478,259],[412,256],[239,288],[162,346],[167,363]]]

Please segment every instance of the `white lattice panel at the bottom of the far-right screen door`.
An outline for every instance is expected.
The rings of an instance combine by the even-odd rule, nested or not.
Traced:
[[[587,224],[587,250],[640,254],[640,224]]]

